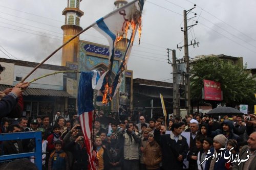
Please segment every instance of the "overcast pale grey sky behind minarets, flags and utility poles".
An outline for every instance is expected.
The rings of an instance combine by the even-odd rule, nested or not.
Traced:
[[[83,0],[84,12],[80,26],[84,29],[100,17],[113,11],[114,0]],[[184,55],[183,10],[197,5],[188,18],[188,39],[200,42],[189,46],[189,57],[224,54],[243,57],[244,65],[256,68],[255,0],[148,0],[144,5],[141,43],[136,39],[127,69],[134,78],[172,82],[172,66],[167,63],[166,48],[176,50],[177,58]],[[41,62],[62,44],[62,10],[67,0],[9,0],[0,1],[0,57]],[[106,39],[93,28],[80,39],[107,45]],[[8,56],[7,56],[8,55]],[[172,61],[172,58],[170,58]],[[60,65],[61,51],[47,64]]]

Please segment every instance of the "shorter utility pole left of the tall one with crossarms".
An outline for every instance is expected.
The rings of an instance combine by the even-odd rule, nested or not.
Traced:
[[[172,51],[173,55],[173,63],[169,60],[169,52]],[[170,50],[167,48],[168,53],[168,64],[172,64],[173,66],[173,109],[174,109],[174,116],[180,116],[180,99],[179,99],[179,89],[178,89],[178,70],[177,70],[177,63],[176,63],[176,51]]]

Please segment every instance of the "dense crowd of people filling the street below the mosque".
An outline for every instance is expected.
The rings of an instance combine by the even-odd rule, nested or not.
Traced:
[[[0,65],[0,74],[3,70]],[[0,133],[41,132],[42,169],[89,169],[86,139],[77,115],[70,117],[68,112],[57,111],[53,123],[48,115],[21,117],[22,92],[28,86],[18,83],[0,93]],[[11,123],[8,117],[19,119]],[[250,115],[250,120],[241,115],[226,115],[219,120],[203,114],[165,120],[123,112],[106,124],[102,117],[103,111],[96,110],[90,139],[96,153],[93,161],[99,170],[256,169],[256,115]],[[1,155],[33,152],[35,140],[6,140],[0,146]],[[29,165],[34,157],[22,162],[26,169],[36,169]],[[18,169],[18,163],[1,162],[0,169]]]

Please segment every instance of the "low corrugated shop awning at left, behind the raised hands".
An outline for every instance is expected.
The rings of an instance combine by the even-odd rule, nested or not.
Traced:
[[[12,88],[10,85],[0,85],[0,91],[4,91],[6,88]],[[72,95],[63,90],[51,90],[42,88],[27,88],[24,91],[24,96],[54,96],[63,98],[74,98]]]

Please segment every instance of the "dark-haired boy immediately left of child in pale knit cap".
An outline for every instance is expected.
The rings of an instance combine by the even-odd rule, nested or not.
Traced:
[[[206,158],[207,152],[212,147],[213,143],[214,143],[214,141],[210,137],[207,137],[207,138],[205,138],[203,140],[203,148],[199,151],[199,153],[197,155],[197,158],[198,158],[197,159],[198,170],[204,170],[205,169],[205,161],[204,161],[204,159]]]

